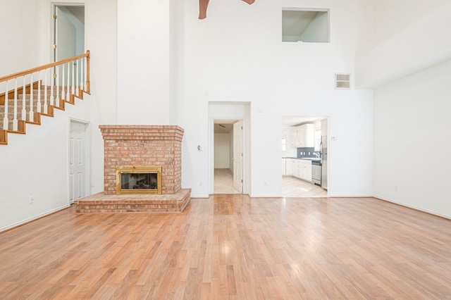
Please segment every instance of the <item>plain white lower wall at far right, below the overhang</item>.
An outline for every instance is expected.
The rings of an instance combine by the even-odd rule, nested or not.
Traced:
[[[450,82],[447,61],[376,89],[376,197],[451,218]]]

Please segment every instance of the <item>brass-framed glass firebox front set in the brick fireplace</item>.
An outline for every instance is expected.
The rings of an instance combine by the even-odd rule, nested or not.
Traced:
[[[116,168],[116,194],[161,194],[161,167]]]

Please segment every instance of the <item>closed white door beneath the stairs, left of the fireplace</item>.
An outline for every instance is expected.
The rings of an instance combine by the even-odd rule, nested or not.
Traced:
[[[85,196],[85,172],[86,172],[86,126],[82,123],[70,123],[69,140],[69,201],[74,201]]]

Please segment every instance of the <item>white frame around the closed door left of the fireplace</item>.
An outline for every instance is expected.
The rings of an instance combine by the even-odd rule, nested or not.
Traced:
[[[89,196],[90,194],[92,194],[92,174],[91,172],[89,172],[89,170],[91,170],[91,166],[92,166],[92,161],[91,161],[91,147],[92,147],[92,135],[91,135],[91,123],[89,123],[86,120],[80,120],[77,118],[69,118],[68,120],[68,145],[67,145],[67,158],[66,158],[66,162],[67,162],[67,187],[68,187],[68,206],[70,206],[70,167],[69,167],[69,163],[70,163],[70,129],[72,126],[72,123],[79,123],[82,125],[85,125],[85,196]]]

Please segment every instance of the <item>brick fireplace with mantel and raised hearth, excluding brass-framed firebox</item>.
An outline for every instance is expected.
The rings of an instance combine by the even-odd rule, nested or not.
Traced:
[[[176,125],[99,125],[104,138],[104,192],[78,201],[77,213],[183,211],[190,189],[181,188],[183,129]],[[118,170],[161,169],[161,195],[118,193]]]

